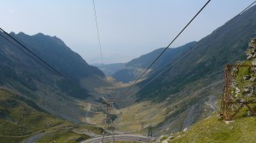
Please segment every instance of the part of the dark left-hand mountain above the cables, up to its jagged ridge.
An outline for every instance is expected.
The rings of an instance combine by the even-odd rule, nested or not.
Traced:
[[[49,37],[42,33],[28,36],[22,32],[17,35],[12,32],[11,35],[25,43],[29,49],[38,54],[50,66],[55,67],[58,72],[80,86],[86,77],[94,77],[95,80],[102,80],[101,78],[104,77],[102,71],[95,66],[89,66],[79,54],[69,49],[57,37]],[[94,83],[91,82],[90,84]],[[99,85],[96,84],[96,86]],[[84,85],[84,89],[86,89],[86,85]]]

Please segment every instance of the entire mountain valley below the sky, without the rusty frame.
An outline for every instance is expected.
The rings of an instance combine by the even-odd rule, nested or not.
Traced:
[[[250,142],[255,117],[248,109],[234,122],[218,112],[224,67],[255,64],[255,16],[253,6],[197,42],[166,49],[139,80],[164,48],[102,68],[59,37],[0,31],[0,142],[99,142],[102,134],[106,142],[112,134],[117,142]],[[231,93],[246,96],[236,88]]]

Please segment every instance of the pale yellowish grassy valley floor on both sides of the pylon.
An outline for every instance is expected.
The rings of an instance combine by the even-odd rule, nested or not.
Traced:
[[[148,125],[156,125],[162,122],[166,117],[166,110],[160,104],[154,104],[149,101],[134,104],[114,112],[118,119],[114,120],[113,125],[116,131],[145,134]],[[102,112],[94,112],[94,115],[88,117],[91,123],[98,126],[104,126],[105,115]]]

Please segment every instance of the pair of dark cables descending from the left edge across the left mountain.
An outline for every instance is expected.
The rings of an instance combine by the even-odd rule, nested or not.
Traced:
[[[2,34],[0,34],[1,37],[3,37],[4,39],[6,39],[7,41],[9,41],[9,43],[12,43],[17,49],[20,49],[20,47],[18,45],[16,45],[15,43],[18,43],[23,49],[20,49],[23,53],[25,53],[26,55],[28,55],[29,57],[31,57],[33,60],[36,60],[38,62],[38,64],[40,64],[41,66],[44,66],[46,69],[50,69],[50,72],[55,73],[56,75],[61,76],[64,81],[66,81],[68,84],[74,86],[75,88],[83,91],[85,94],[87,94],[87,91],[85,91],[84,89],[80,88],[79,85],[77,85],[76,83],[73,83],[70,79],[68,79],[66,76],[64,76],[63,74],[61,74],[61,72],[58,72],[53,66],[50,66],[49,63],[47,63],[45,60],[43,60],[42,58],[40,58],[37,54],[35,54],[34,52],[32,52],[31,49],[28,49],[23,43],[20,43],[20,41],[18,41],[15,37],[12,37],[8,32],[4,31],[3,28],[0,28],[0,31],[3,31],[3,33],[5,35],[7,35],[10,39],[14,40],[11,41],[9,40],[8,37],[3,37]],[[28,53],[26,53],[26,51]],[[34,57],[33,57],[34,56]],[[40,61],[40,62],[39,62]],[[41,63],[42,62],[42,63]],[[49,67],[49,68],[47,68]]]

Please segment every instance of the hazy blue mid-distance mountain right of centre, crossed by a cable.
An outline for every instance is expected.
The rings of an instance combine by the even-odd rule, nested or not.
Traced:
[[[187,43],[175,49],[167,49],[166,53],[157,60],[150,71],[166,66],[166,64],[177,60],[177,58],[188,49],[192,48],[196,42]],[[125,64],[125,68],[113,73],[113,77],[118,82],[129,83],[137,79],[153,60],[164,50],[164,48],[156,49],[148,54],[143,54],[137,59],[133,59]]]

